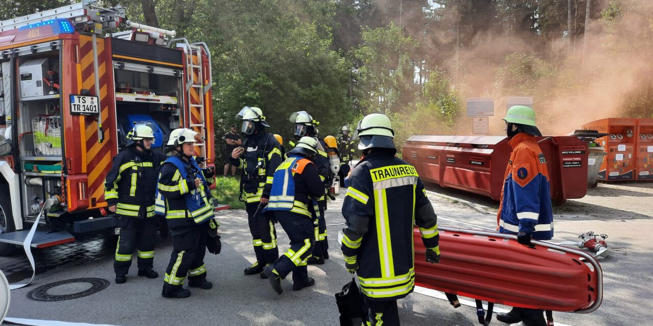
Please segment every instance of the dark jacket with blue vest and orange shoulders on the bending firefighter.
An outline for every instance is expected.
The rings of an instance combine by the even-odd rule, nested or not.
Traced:
[[[291,211],[311,217],[310,205],[324,195],[315,164],[299,155],[291,154],[274,172],[268,211]]]

